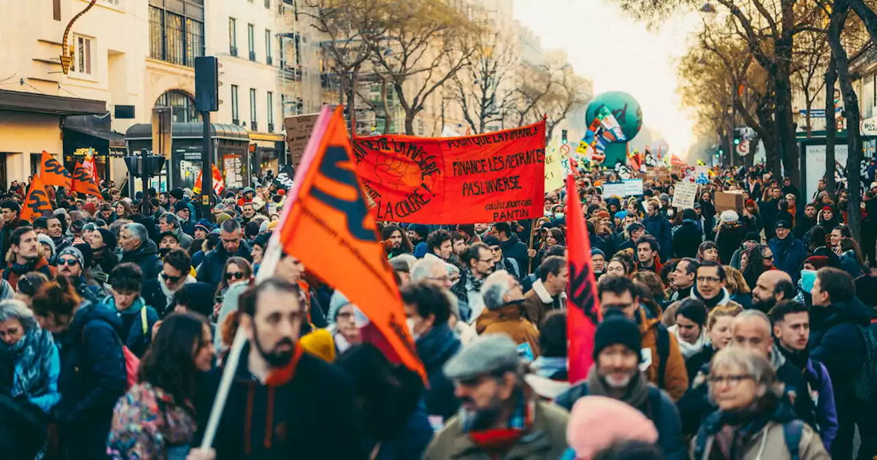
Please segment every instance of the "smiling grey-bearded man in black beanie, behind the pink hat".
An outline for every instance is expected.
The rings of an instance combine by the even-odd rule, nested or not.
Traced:
[[[686,458],[679,413],[667,393],[649,384],[640,369],[642,356],[639,329],[635,322],[614,310],[603,318],[594,336],[594,366],[588,379],[554,400],[572,410],[587,396],[620,400],[637,409],[658,429],[658,445],[667,459]]]

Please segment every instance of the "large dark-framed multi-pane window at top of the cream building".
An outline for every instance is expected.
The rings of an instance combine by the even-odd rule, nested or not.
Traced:
[[[203,17],[149,7],[149,56],[192,67],[204,55]]]

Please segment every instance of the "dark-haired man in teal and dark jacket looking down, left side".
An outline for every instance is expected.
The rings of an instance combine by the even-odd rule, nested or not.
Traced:
[[[118,336],[137,357],[143,357],[153,342],[153,326],[159,321],[155,308],[140,297],[142,286],[143,272],[139,266],[130,262],[119,264],[110,273],[111,295],[103,300],[122,320]]]

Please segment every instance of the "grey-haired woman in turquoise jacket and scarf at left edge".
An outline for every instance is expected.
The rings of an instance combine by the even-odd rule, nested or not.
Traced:
[[[46,414],[61,400],[61,360],[52,334],[22,301],[0,301],[0,456],[34,458],[46,442]]]

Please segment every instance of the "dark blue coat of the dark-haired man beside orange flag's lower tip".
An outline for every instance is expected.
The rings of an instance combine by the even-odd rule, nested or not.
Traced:
[[[417,356],[424,363],[430,387],[424,395],[426,414],[440,415],[445,420],[457,413],[460,400],[453,394],[453,383],[442,368],[460,351],[462,343],[447,324],[430,329],[415,341]]]

